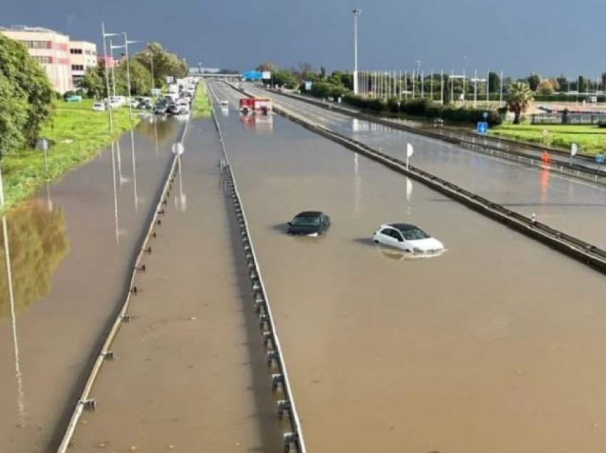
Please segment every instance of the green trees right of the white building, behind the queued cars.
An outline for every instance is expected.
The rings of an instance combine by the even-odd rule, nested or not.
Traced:
[[[185,60],[175,53],[165,51],[159,43],[149,43],[143,51],[128,59],[130,71],[130,95],[149,95],[151,88],[162,88],[167,76],[183,78],[188,75]],[[117,95],[128,95],[127,61],[125,56],[115,64],[111,73],[110,90],[115,84]],[[87,68],[78,83],[90,98],[106,98],[105,61],[95,68]]]

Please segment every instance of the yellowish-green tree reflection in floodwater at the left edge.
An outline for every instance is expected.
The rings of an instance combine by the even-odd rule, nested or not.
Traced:
[[[51,290],[51,276],[68,253],[63,209],[48,210],[43,203],[29,202],[8,214],[6,235],[11,246],[12,283],[18,314]],[[3,246],[6,254],[6,245]],[[11,313],[6,261],[0,263],[0,319]]]

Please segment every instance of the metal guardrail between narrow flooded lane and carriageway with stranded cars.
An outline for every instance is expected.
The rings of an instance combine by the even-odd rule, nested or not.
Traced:
[[[206,85],[207,90],[212,94],[215,101],[217,101],[217,95],[214,90],[210,88],[210,85]],[[284,439],[284,452],[292,451],[292,447],[296,448],[299,453],[307,452],[305,448],[305,442],[303,438],[303,430],[299,415],[297,414],[297,408],[294,404],[294,395],[292,385],[289,382],[286,361],[282,354],[282,347],[279,342],[277,328],[274,323],[274,316],[272,314],[272,308],[269,303],[269,296],[265,290],[265,284],[261,276],[261,269],[257,256],[255,254],[255,247],[252,244],[252,237],[250,236],[250,230],[242,200],[240,199],[240,192],[238,192],[235,176],[227,157],[227,150],[225,149],[225,141],[221,132],[221,127],[217,116],[215,115],[215,109],[212,109],[212,119],[215,122],[215,128],[219,134],[219,140],[221,143],[221,149],[224,156],[224,160],[220,162],[221,175],[224,177],[226,182],[226,189],[229,197],[232,199],[233,207],[235,210],[235,216],[237,220],[237,227],[240,230],[240,237],[242,239],[242,247],[244,248],[246,264],[250,276],[250,282],[252,285],[253,300],[252,304],[257,312],[259,319],[260,330],[263,335],[263,343],[267,348],[267,365],[272,371],[271,374],[271,385],[274,391],[274,399],[276,403],[277,416],[281,420],[288,420],[291,429],[287,432],[283,432],[282,436]]]

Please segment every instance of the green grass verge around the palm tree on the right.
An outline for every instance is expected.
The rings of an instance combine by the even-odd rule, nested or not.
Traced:
[[[548,130],[547,138],[543,130]],[[589,125],[500,125],[489,131],[497,137],[540,143],[570,150],[572,143],[580,145],[579,154],[596,155],[606,150],[606,129]]]

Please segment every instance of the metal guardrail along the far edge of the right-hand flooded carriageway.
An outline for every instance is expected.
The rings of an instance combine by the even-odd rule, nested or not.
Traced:
[[[510,150],[511,146],[528,148],[530,150],[535,150],[535,151],[547,150],[548,152],[550,152],[552,154],[559,155],[562,157],[567,157],[567,158],[570,156],[570,154],[568,152],[565,152],[563,150],[558,150],[557,148],[542,147],[540,145],[533,145],[532,143],[517,142],[515,140],[508,140],[508,139],[504,139],[504,138],[500,138],[500,137],[479,137],[478,135],[475,135],[471,132],[453,130],[448,127],[443,127],[443,128],[440,127],[438,129],[436,129],[436,130],[439,130],[440,132],[433,132],[433,130],[427,130],[427,129],[423,129],[421,127],[414,127],[411,125],[404,125],[402,123],[397,123],[396,121],[388,120],[385,118],[379,118],[374,115],[369,115],[368,113],[363,113],[359,110],[351,110],[348,108],[342,108],[338,105],[333,105],[332,103],[322,103],[322,101],[319,101],[319,100],[304,98],[302,96],[293,95],[290,93],[283,93],[283,92],[278,92],[278,91],[273,91],[273,93],[284,96],[286,98],[299,100],[304,103],[308,103],[310,105],[315,105],[320,108],[332,110],[334,112],[341,113],[342,115],[347,115],[347,116],[350,116],[353,118],[358,118],[359,120],[364,120],[364,121],[369,121],[371,123],[381,124],[381,125],[384,125],[387,127],[391,127],[393,129],[404,130],[405,132],[411,132],[416,135],[423,135],[425,137],[434,138],[436,140],[443,140],[446,142],[451,142],[454,145],[465,146],[468,143],[475,144],[476,141],[482,140],[483,143],[485,144],[485,147],[488,150],[507,150],[509,155],[516,156],[516,157],[520,156],[520,157],[531,158],[530,156],[528,156],[528,154],[525,154],[522,151]],[[500,157],[504,157],[504,156],[500,156]],[[575,159],[577,159],[577,160],[582,159],[582,160],[587,160],[587,161],[592,162],[592,158],[587,157],[587,156],[578,156],[577,155],[575,157]],[[598,170],[595,170],[590,167],[585,167],[585,165],[579,165],[579,164],[575,164],[575,163],[570,165],[570,163],[568,163],[568,162],[564,162],[562,160],[554,160],[553,158],[552,158],[552,162],[554,162],[554,164],[557,165],[557,167],[551,167],[551,170],[553,170],[553,171],[563,172],[566,175],[571,176],[571,177],[578,177],[580,179],[598,182],[600,184],[602,184],[602,181],[606,182],[606,172],[605,171],[598,171]],[[564,170],[560,170],[560,168],[567,169],[570,171],[566,172]],[[587,174],[591,175],[591,177],[582,176],[583,173],[587,173]],[[597,176],[597,178],[595,176]]]

